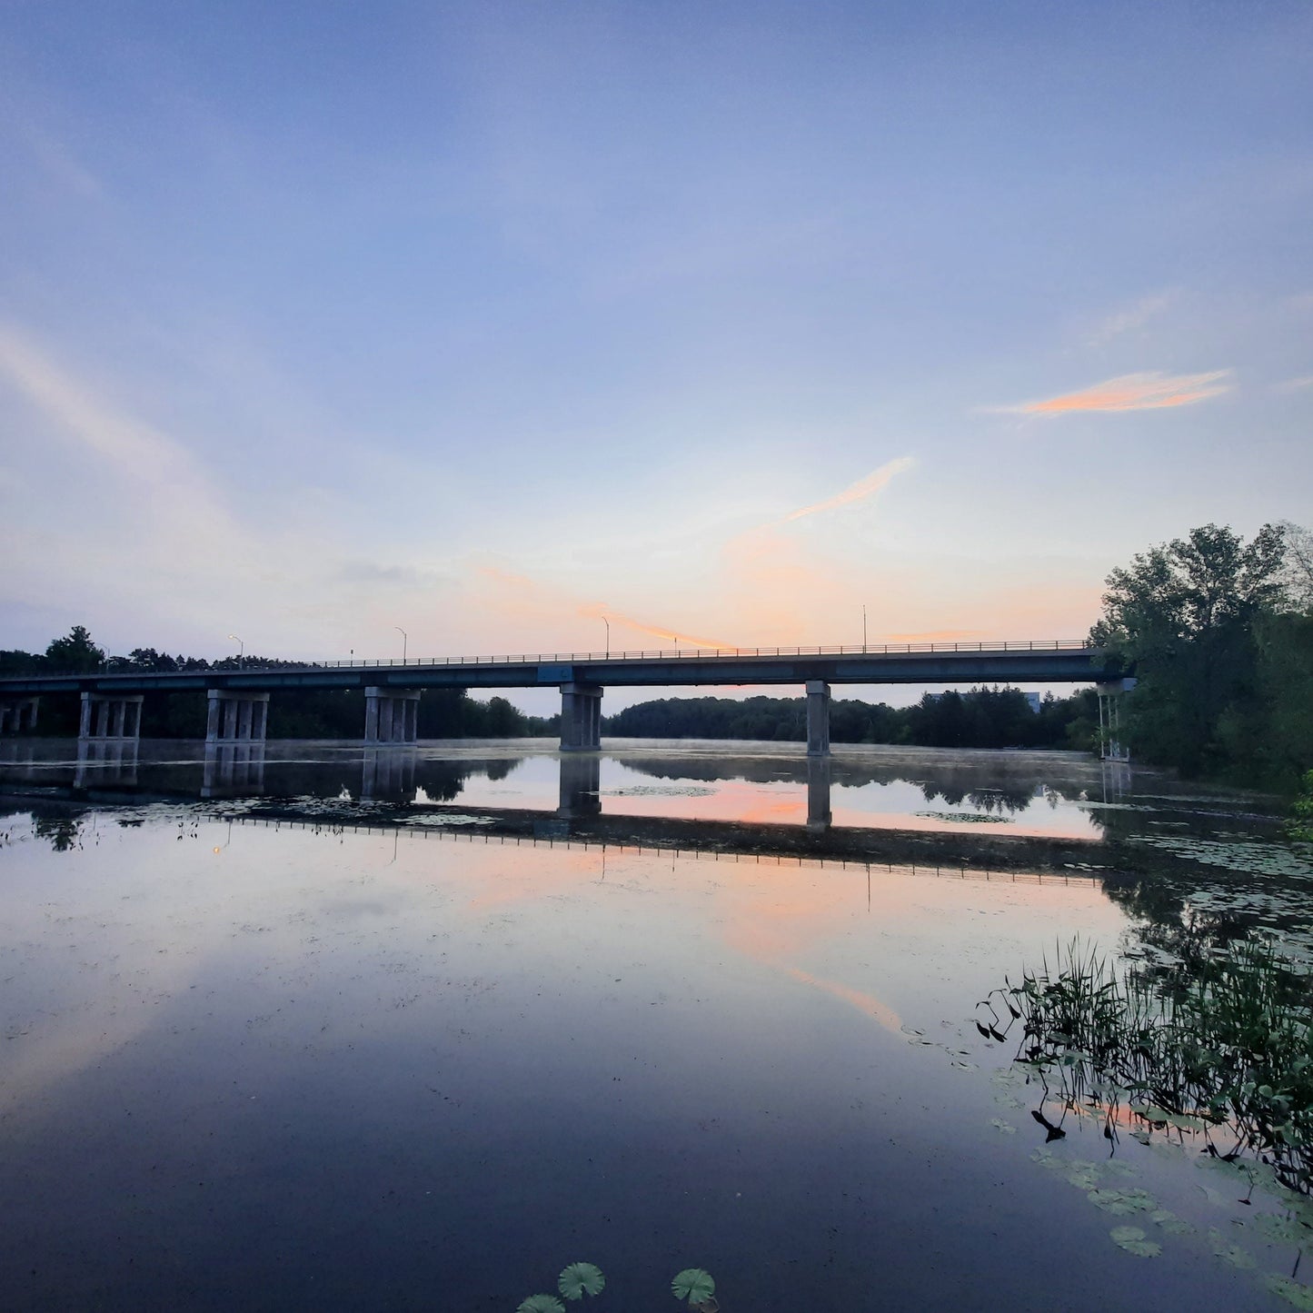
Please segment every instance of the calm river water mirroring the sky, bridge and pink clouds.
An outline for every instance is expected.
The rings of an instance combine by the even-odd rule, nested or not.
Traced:
[[[1192,1228],[1113,1245],[1127,1218],[1033,1161],[1037,1091],[973,1022],[1057,941],[1145,952],[1209,898],[1302,941],[1313,867],[1263,800],[855,750],[826,822],[764,744],[608,744],[595,783],[523,742],[70,748],[0,765],[5,1308],[511,1313],[575,1260],[600,1313],[674,1306],[692,1266],[727,1313],[1291,1306],[1262,1284],[1299,1255],[1255,1226],[1271,1201],[1073,1119],[1062,1165]],[[599,839],[608,817],[658,848],[705,830],[653,851]],[[913,823],[1088,860],[768,851]]]

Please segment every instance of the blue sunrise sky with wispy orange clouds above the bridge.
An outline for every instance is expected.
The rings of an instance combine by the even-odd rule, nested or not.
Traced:
[[[7,0],[0,647],[1081,637],[1313,521],[1310,54],[1302,0]]]

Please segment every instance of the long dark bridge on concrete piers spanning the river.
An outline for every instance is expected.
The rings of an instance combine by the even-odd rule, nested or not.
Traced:
[[[260,668],[41,672],[0,679],[0,733],[37,721],[42,696],[81,697],[80,738],[133,739],[147,693],[204,691],[206,742],[264,739],[269,697],[290,689],[361,689],[365,742],[414,743],[427,688],[561,691],[562,751],[596,751],[605,688],[802,684],[807,752],[830,751],[834,684],[1098,684],[1120,688],[1113,658],[1083,639],[872,643],[840,647],[680,647],[659,651],[328,660]],[[1109,702],[1109,717],[1111,717]]]

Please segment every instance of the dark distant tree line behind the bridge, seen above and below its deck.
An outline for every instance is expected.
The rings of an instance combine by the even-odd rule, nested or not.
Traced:
[[[267,656],[246,656],[240,667],[264,670],[303,666]],[[45,653],[0,650],[0,676],[38,672],[238,670],[236,656],[209,662],[134,647],[110,656],[76,625]],[[205,699],[196,692],[147,693],[142,734],[147,738],[202,738]],[[288,689],[269,701],[269,737],[291,739],[360,738],[365,696],[358,689]],[[559,733],[559,716],[527,716],[504,697],[475,701],[463,689],[427,689],[419,704],[420,738],[524,738]],[[1046,697],[1036,712],[1015,688],[973,688],[966,693],[927,693],[915,706],[836,699],[830,704],[835,743],[906,743],[928,747],[1075,747],[1095,738],[1098,708],[1092,691]],[[605,717],[607,734],[622,738],[806,739],[801,697],[670,697],[639,702]],[[77,702],[42,700],[42,734],[76,734]]]

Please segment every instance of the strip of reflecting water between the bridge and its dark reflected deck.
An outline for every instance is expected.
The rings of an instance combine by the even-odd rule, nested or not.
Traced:
[[[534,741],[420,747],[26,739],[0,744],[0,790],[77,800],[264,800],[349,807],[520,811],[605,818],[1032,836],[1060,842],[1195,832],[1226,811],[1183,807],[1179,786],[1123,762],[1062,752],[852,747],[806,758],[792,744],[617,741],[567,754]],[[1207,802],[1208,800],[1196,800]],[[1233,804],[1230,805],[1233,809]],[[1077,859],[1081,860],[1081,859]]]

